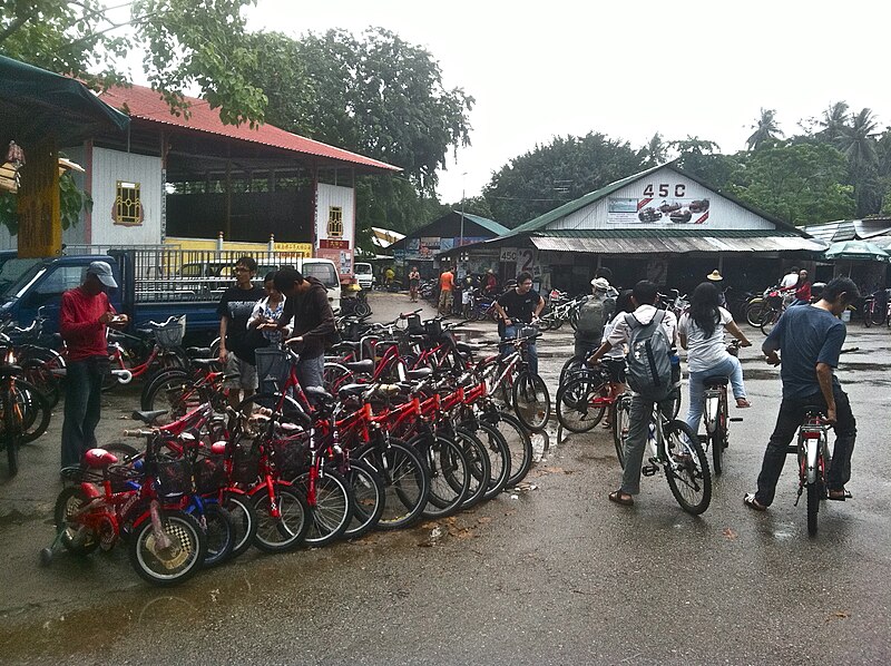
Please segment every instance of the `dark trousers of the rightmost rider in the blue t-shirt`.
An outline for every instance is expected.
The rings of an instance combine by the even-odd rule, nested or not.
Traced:
[[[842,388],[833,385],[832,394],[835,396],[835,448],[832,451],[826,484],[830,490],[841,490],[851,479],[851,453],[854,451],[856,439],[856,421],[851,412],[848,394]],[[755,499],[765,507],[770,507],[773,502],[776,482],[786,461],[786,449],[804,420],[803,408],[806,405],[825,410],[826,401],[822,393],[816,393],[805,398],[784,398],[780,404],[776,425],[764,451],[764,461],[761,463],[758,474],[758,491],[755,493]]]

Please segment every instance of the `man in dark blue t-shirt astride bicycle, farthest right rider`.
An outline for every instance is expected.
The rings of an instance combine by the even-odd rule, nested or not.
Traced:
[[[846,334],[839,316],[860,291],[850,277],[836,277],[823,290],[813,305],[792,307],[780,317],[762,345],[771,365],[783,364],[783,400],[773,434],[764,451],[758,474],[758,489],[746,494],[745,506],[763,511],[773,503],[776,482],[786,459],[786,450],[802,422],[803,408],[816,405],[825,410],[826,422],[835,430],[826,486],[829,499],[844,500],[844,484],[851,479],[851,452],[856,439],[856,421],[848,394],[842,390],[833,370]],[[776,352],[780,352],[777,355]]]

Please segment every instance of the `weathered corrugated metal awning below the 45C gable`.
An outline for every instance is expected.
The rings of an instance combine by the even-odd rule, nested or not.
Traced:
[[[789,252],[804,249],[821,252],[824,245],[801,236],[532,236],[538,249],[554,252],[586,252],[597,254],[689,254],[693,252]]]

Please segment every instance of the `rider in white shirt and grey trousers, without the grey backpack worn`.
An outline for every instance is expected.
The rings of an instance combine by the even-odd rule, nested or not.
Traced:
[[[630,315],[624,316],[616,322],[609,337],[591,354],[588,363],[595,365],[613,347],[630,343],[636,330],[648,326],[654,321],[659,321],[659,327],[665,334],[667,346],[674,347],[677,317],[670,310],[658,310],[656,307],[655,304],[658,297],[659,292],[656,285],[648,280],[642,280],[634,285],[631,302],[637,308]],[[633,323],[629,323],[629,320]],[[654,336],[656,334],[658,334],[658,330],[654,332]],[[608,496],[611,502],[630,507],[634,505],[634,496],[640,492],[640,469],[647,445],[647,430],[653,418],[653,408],[656,403],[658,403],[663,413],[670,413],[674,405],[674,386],[670,383],[663,385],[660,391],[654,390],[647,395],[637,392],[631,395],[628,439],[625,442],[625,469],[621,474],[621,486]]]

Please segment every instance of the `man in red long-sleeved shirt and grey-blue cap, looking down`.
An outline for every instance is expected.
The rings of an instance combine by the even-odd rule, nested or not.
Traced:
[[[96,447],[96,425],[101,412],[102,379],[108,373],[106,329],[126,326],[126,314],[116,314],[106,288],[118,286],[106,262],[92,262],[84,284],[62,294],[59,332],[68,347],[62,468],[80,464]]]

